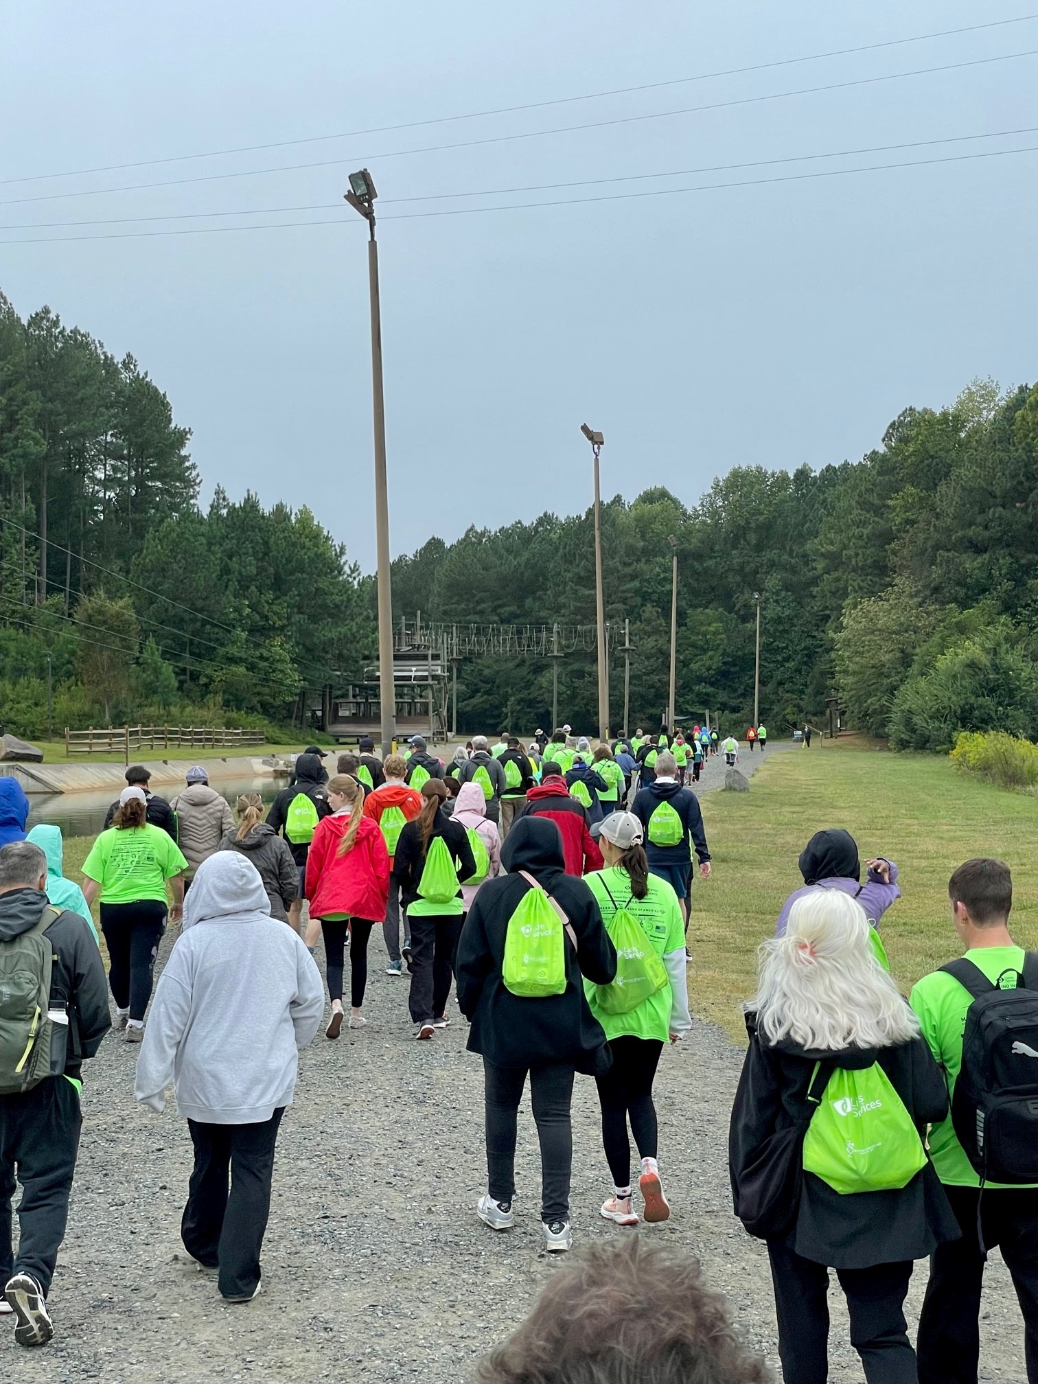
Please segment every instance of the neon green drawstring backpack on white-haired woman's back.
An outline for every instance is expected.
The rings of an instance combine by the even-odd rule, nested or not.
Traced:
[[[919,1131],[880,1064],[836,1067],[807,1127],[804,1171],[851,1196],[908,1186],[925,1167]]]

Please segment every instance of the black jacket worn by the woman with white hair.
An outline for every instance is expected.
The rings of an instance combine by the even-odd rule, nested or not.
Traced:
[[[904,1102],[920,1139],[926,1127],[944,1120],[948,1091],[925,1038],[897,1048],[847,1048],[841,1052],[807,1052],[792,1041],[768,1044],[747,1017],[750,1046],[735,1093],[728,1136],[728,1171],[735,1214],[743,1168],[778,1129],[803,1116],[807,1088],[817,1062],[832,1062],[861,1071],[875,1062]],[[960,1235],[933,1164],[908,1186],[890,1192],[841,1194],[812,1172],[804,1174],[796,1226],[786,1244],[805,1259],[835,1269],[868,1269],[876,1264],[922,1259],[937,1244]]]

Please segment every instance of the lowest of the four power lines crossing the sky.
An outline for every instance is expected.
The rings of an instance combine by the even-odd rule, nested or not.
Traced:
[[[782,177],[742,179],[735,183],[703,183],[699,187],[650,188],[644,192],[609,192],[605,197],[569,197],[569,198],[559,198],[554,202],[509,202],[504,206],[447,208],[439,212],[397,212],[390,216],[383,216],[379,220],[411,221],[429,216],[482,216],[487,212],[526,212],[526,210],[537,210],[545,206],[579,206],[584,202],[626,202],[631,201],[632,198],[642,198],[642,197],[674,197],[677,194],[684,194],[684,192],[716,192],[734,187],[765,187],[772,183],[801,183],[810,179],[848,177],[857,173],[883,173],[894,169],[930,167],[938,163],[962,163],[973,159],[996,159],[1012,154],[1034,154],[1034,152],[1038,152],[1038,145],[1028,144],[1019,149],[987,149],[981,154],[955,154],[947,159],[908,159],[901,163],[872,163],[868,165],[866,167],[859,167],[859,169],[826,169],[821,173],[787,173]],[[172,231],[111,231],[105,233],[104,235],[25,235],[11,241],[0,241],[0,245],[66,245],[72,244],[73,241],[137,241],[137,239],[152,239],[155,237],[163,237],[163,235],[219,235],[219,234],[235,234],[235,233],[244,234],[248,231],[288,231],[288,230],[296,230],[299,227],[343,226],[343,224],[356,227],[361,226],[361,223],[354,221],[353,217],[345,220],[343,216],[336,216],[336,217],[325,217],[322,220],[309,220],[309,221],[266,221],[262,226],[191,226]],[[11,522],[10,519],[4,520],[4,523],[10,522]],[[170,598],[162,597],[161,599],[169,601]],[[177,605],[179,602],[173,601],[172,603]],[[209,620],[212,617],[203,616],[202,619]]]

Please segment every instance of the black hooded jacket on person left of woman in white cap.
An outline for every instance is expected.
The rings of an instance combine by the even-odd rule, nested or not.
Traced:
[[[595,895],[583,879],[566,873],[562,836],[543,817],[520,817],[501,847],[508,871],[486,880],[469,909],[458,943],[458,1002],[472,1021],[469,1050],[498,1067],[573,1063],[577,1071],[603,1066],[605,1032],[584,998],[583,976],[597,985],[616,976],[616,951]],[[501,967],[508,920],[530,886],[527,871],[562,907],[577,937],[566,937],[566,990],[529,999],[505,990]]]

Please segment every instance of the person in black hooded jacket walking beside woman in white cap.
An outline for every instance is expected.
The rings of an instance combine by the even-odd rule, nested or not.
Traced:
[[[530,1078],[541,1146],[541,1221],[551,1253],[573,1243],[569,1187],[573,1168],[570,1104],[576,1071],[608,1064],[602,1026],[588,1009],[583,980],[616,976],[616,949],[584,880],[566,873],[554,822],[520,817],[501,848],[508,871],[487,880],[469,909],[458,944],[458,1001],[471,1021],[468,1048],[483,1057],[487,1192],[477,1215],[493,1230],[515,1225],[516,1114]],[[513,995],[502,977],[508,923],[530,889],[543,889],[566,915],[562,938],[566,988],[544,998]]]

